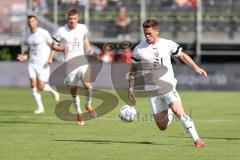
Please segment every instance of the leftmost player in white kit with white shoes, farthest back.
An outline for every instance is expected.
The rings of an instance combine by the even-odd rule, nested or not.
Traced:
[[[44,113],[44,106],[41,99],[40,91],[51,92],[56,101],[59,100],[59,93],[53,90],[47,83],[50,76],[50,66],[48,59],[50,56],[52,38],[49,32],[38,27],[37,18],[33,15],[27,18],[30,35],[28,35],[26,43],[28,45],[28,53],[18,54],[19,61],[29,59],[28,74],[32,88],[32,94],[37,104],[37,110],[34,113]],[[29,55],[28,55],[29,54]]]

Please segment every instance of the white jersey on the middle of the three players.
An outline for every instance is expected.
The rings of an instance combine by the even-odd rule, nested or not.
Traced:
[[[64,61],[68,61],[76,56],[84,55],[84,36],[88,29],[84,24],[77,24],[77,27],[70,29],[68,24],[60,27],[53,36],[54,42],[61,47],[68,48],[68,53],[64,54]]]

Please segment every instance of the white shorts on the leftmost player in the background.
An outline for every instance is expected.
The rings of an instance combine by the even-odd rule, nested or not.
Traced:
[[[37,78],[40,81],[48,82],[50,76],[49,65],[40,66],[29,63],[28,64],[28,75],[30,78]]]

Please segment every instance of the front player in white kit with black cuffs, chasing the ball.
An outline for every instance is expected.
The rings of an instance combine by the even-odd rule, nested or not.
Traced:
[[[133,93],[134,81],[137,73],[137,64],[148,63],[160,64],[167,67],[167,72],[159,77],[159,80],[165,81],[172,85],[172,89],[165,94],[149,97],[155,122],[160,130],[165,130],[168,125],[168,109],[179,118],[183,127],[192,136],[196,147],[204,147],[204,142],[199,138],[191,118],[186,115],[183,109],[181,98],[176,90],[177,80],[174,78],[174,72],[171,64],[171,55],[178,57],[185,64],[193,68],[198,74],[207,77],[204,69],[184,52],[175,42],[159,37],[158,22],[154,19],[148,19],[143,23],[143,30],[146,41],[141,42],[134,48],[133,63],[129,74],[128,97],[135,103]]]

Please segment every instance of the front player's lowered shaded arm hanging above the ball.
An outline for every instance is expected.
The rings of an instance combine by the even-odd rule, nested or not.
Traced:
[[[133,86],[135,82],[136,73],[137,73],[137,65],[132,63],[130,73],[129,73],[128,98],[133,104],[136,103],[136,98],[133,93]]]

